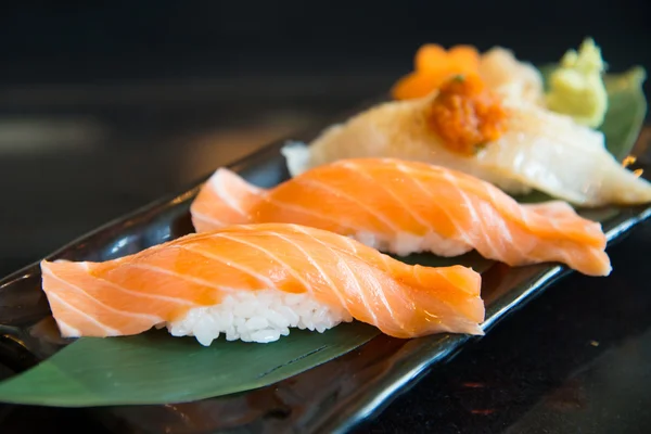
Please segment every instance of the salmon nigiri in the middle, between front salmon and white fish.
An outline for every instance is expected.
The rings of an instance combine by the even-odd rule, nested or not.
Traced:
[[[202,187],[191,214],[199,232],[294,222],[399,256],[476,250],[510,266],[559,261],[588,276],[611,271],[601,225],[569,204],[522,205],[478,178],[412,161],[340,159],[270,190],[220,168]]]

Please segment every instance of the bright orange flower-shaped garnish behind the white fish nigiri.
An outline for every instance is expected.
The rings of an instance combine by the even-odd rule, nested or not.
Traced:
[[[396,82],[396,100],[426,97],[458,75],[477,72],[480,53],[474,47],[456,46],[449,51],[435,43],[422,46],[416,53],[414,71]]]

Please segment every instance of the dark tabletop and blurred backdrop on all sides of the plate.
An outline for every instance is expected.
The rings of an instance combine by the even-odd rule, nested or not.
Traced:
[[[386,91],[424,42],[539,64],[592,36],[612,72],[650,71],[650,17],[648,0],[4,3],[0,275]],[[554,286],[362,430],[644,432],[650,233],[613,250],[620,272]],[[5,426],[77,421],[30,414]]]

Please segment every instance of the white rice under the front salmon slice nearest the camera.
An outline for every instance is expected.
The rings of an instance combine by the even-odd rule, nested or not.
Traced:
[[[323,333],[350,321],[346,310],[323,305],[310,294],[260,290],[233,292],[219,305],[193,308],[157,328],[167,327],[174,336],[194,336],[208,346],[221,334],[227,341],[269,343],[289,335],[291,328]]]

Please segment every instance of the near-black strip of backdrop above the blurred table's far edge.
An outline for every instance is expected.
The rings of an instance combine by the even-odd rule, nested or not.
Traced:
[[[23,1],[1,12],[0,77],[105,84],[242,73],[363,76],[406,71],[425,41],[503,44],[537,63],[586,35],[621,69],[651,64],[650,12],[644,0]]]

